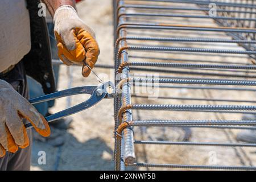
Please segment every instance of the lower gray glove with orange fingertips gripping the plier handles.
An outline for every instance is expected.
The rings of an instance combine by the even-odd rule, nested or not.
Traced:
[[[0,80],[0,158],[29,145],[22,118],[28,119],[42,136],[51,133],[44,117],[6,81]]]

